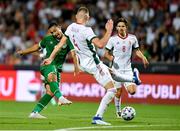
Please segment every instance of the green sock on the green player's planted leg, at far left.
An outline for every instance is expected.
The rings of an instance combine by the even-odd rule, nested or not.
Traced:
[[[49,103],[49,101],[51,100],[52,96],[50,96],[49,94],[45,94],[37,103],[37,105],[35,106],[33,112],[40,112],[42,111],[42,109]]]

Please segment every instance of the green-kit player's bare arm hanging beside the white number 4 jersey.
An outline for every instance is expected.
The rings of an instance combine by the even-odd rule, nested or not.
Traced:
[[[71,56],[73,58],[73,63],[74,63],[74,76],[76,76],[81,72],[81,70],[79,69],[79,60],[75,50],[71,51]]]

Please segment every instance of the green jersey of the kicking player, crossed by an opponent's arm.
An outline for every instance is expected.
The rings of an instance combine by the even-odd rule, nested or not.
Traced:
[[[51,55],[52,51],[54,50],[55,46],[58,43],[59,43],[59,39],[57,39],[53,35],[45,36],[41,40],[41,42],[39,43],[39,46],[45,49],[44,58],[48,58]],[[70,40],[68,39],[66,44],[59,50],[59,52],[57,53],[56,57],[54,58],[51,64],[55,65],[58,71],[61,71],[62,65],[66,59],[66,55],[68,54],[70,50],[73,50],[73,49],[74,47],[72,43],[70,42]]]

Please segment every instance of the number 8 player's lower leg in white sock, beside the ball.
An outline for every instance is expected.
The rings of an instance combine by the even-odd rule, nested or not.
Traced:
[[[121,94],[122,94],[122,87],[117,88],[117,93],[114,97],[114,105],[116,108],[117,118],[121,118]]]

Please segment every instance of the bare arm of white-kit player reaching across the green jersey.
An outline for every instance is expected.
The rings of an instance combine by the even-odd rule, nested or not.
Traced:
[[[45,59],[43,61],[44,65],[49,65],[51,64],[51,62],[54,60],[54,58],[56,57],[56,54],[58,53],[58,51],[62,48],[62,46],[66,43],[67,37],[65,35],[63,35],[63,37],[61,38],[60,42],[57,44],[57,46],[55,46],[53,52],[51,53],[50,57]]]

